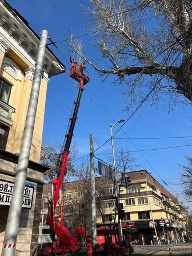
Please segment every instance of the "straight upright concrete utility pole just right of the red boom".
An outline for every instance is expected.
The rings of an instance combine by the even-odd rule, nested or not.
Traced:
[[[95,205],[95,169],[94,169],[93,134],[90,135],[90,169],[91,169],[91,217],[92,217],[92,242],[97,244],[97,220]]]

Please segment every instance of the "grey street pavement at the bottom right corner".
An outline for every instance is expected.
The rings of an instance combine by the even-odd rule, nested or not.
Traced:
[[[182,255],[182,256],[192,256],[192,245],[182,243],[178,246],[175,245],[161,245],[161,246],[134,246],[133,256],[142,255]]]

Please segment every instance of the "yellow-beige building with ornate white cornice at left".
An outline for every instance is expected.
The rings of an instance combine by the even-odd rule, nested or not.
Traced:
[[[0,2],[0,253],[13,191],[15,168],[21,147],[38,35],[29,23],[6,2]],[[29,169],[23,208],[19,224],[16,255],[35,255],[41,214],[43,173],[39,165],[47,82],[53,75],[65,71],[65,66],[46,49],[37,115],[31,145]]]

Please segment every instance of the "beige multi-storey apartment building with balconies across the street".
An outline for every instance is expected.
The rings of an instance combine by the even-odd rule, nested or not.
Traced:
[[[183,239],[187,231],[187,211],[179,205],[168,190],[157,182],[146,170],[132,171],[129,186],[121,186],[119,201],[125,210],[122,219],[123,235],[131,234],[133,243],[150,245],[151,241],[157,242],[153,219],[158,238],[163,241],[169,235],[171,238]],[[114,183],[107,178],[95,178],[97,191],[97,240],[105,241],[106,235],[118,235],[118,217],[115,217],[115,188]],[[146,186],[147,184],[147,186]],[[91,203],[90,181],[67,182],[64,185],[63,218],[71,221],[71,225],[86,225],[87,233],[91,232]],[[43,191],[50,197],[50,185],[44,185]],[[47,209],[44,211],[47,212]],[[59,218],[59,207],[57,207]],[[152,216],[153,215],[153,216]],[[163,225],[163,226],[162,226]]]

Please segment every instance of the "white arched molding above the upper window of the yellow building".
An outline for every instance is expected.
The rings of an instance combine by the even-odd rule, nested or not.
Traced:
[[[12,59],[7,57],[3,58],[1,69],[6,71],[14,79],[21,81],[21,70]]]

